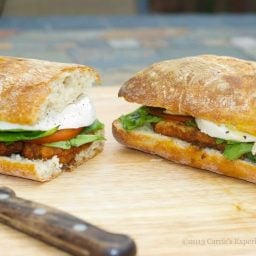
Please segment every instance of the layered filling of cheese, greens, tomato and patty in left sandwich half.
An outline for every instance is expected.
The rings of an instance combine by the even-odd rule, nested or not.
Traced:
[[[57,156],[61,164],[69,165],[92,142],[104,140],[103,128],[89,98],[83,97],[34,125],[0,121],[0,156],[19,154],[31,160]]]

